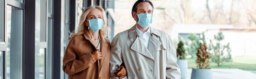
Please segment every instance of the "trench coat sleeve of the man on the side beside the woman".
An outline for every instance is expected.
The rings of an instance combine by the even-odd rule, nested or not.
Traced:
[[[119,79],[115,77],[115,73],[117,73],[116,69],[122,64],[122,51],[121,51],[121,40],[119,38],[119,34],[114,37],[111,42],[111,51],[110,51],[110,73],[111,79]]]

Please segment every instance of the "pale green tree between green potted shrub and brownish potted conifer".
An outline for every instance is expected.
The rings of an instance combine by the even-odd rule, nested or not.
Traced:
[[[187,54],[191,55],[192,58],[195,58],[199,47],[200,38],[196,34],[189,34],[188,39],[190,41],[185,42]]]

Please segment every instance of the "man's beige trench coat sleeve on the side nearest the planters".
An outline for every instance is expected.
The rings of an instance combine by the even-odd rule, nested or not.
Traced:
[[[174,45],[169,35],[166,34],[166,38],[166,79],[180,79],[180,68],[177,65]]]

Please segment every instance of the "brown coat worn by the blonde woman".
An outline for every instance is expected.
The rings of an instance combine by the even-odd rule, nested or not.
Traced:
[[[69,79],[110,79],[110,40],[102,35],[100,38],[103,58],[99,61],[90,53],[96,47],[91,43],[87,31],[70,40],[63,58],[63,71],[69,75]]]

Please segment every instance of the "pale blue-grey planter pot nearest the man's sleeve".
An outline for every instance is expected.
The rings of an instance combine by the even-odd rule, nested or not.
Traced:
[[[186,79],[188,72],[188,61],[186,59],[177,59],[177,64],[180,67],[181,79]]]

